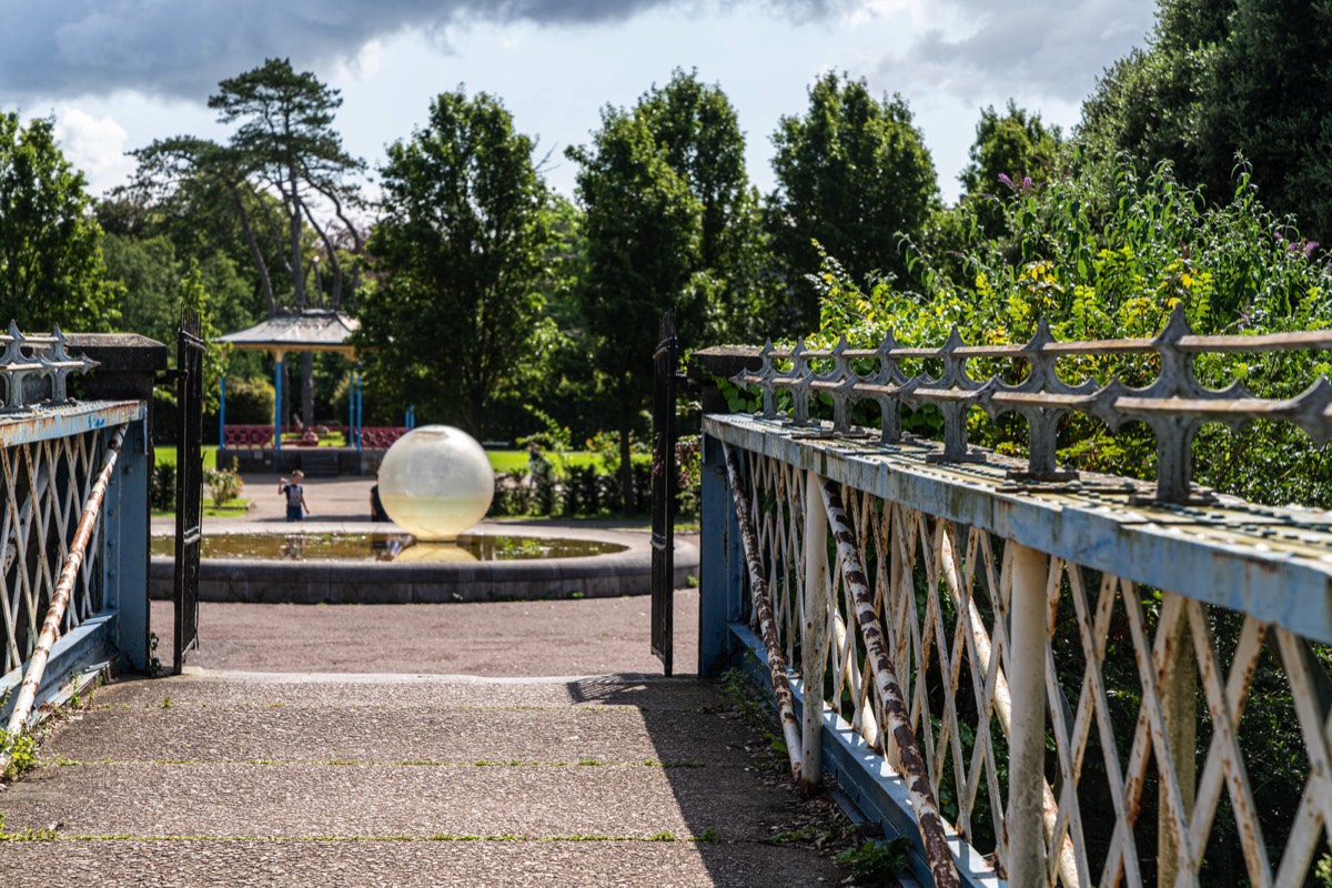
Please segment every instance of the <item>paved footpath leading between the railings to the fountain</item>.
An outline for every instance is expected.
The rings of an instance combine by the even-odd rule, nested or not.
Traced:
[[[759,767],[715,683],[659,675],[643,598],[201,607],[185,675],[99,690],[0,792],[35,839],[0,841],[5,888],[844,877],[793,840],[827,803]]]

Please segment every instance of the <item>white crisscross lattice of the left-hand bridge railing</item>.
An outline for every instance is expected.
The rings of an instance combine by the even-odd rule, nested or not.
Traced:
[[[0,447],[0,674],[21,666],[33,650],[104,449],[101,431]],[[101,610],[101,551],[99,522],[65,611],[65,632]]]

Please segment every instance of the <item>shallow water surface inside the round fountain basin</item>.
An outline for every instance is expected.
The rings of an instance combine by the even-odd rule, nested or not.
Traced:
[[[545,537],[465,537],[457,543],[417,543],[406,534],[220,534],[202,539],[202,558],[262,560],[476,562],[581,558],[623,551],[623,546]],[[174,537],[155,537],[152,554],[176,554]]]

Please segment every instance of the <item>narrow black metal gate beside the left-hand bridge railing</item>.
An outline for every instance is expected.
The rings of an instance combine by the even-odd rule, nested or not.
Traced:
[[[186,313],[176,333],[176,644],[174,672],[198,646],[198,549],[204,526],[204,341]]]

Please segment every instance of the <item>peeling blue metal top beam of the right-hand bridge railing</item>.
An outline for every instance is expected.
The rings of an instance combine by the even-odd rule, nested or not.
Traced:
[[[1228,497],[1201,507],[1144,506],[1134,502],[1134,482],[1095,475],[1078,486],[1022,489],[1004,477],[1008,463],[999,457],[992,465],[927,463],[936,445],[802,438],[809,430],[751,417],[709,415],[703,430],[930,515],[1332,643],[1328,513]]]

